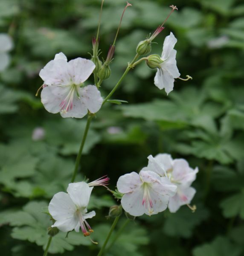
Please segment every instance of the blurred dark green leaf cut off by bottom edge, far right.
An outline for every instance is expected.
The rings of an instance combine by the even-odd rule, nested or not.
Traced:
[[[233,244],[226,237],[218,236],[212,243],[195,247],[194,256],[239,256],[241,248]]]

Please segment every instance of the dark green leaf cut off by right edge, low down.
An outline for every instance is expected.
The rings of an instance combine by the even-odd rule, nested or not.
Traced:
[[[244,219],[244,191],[224,199],[221,201],[220,207],[224,217],[231,218],[240,215]]]

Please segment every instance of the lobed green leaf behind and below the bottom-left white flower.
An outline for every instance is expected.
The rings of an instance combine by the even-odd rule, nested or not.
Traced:
[[[7,220],[13,228],[11,236],[14,239],[28,240],[36,243],[43,248],[46,247],[49,236],[47,227],[51,225],[49,217],[41,212],[46,206],[46,202],[32,201],[23,207],[23,212],[12,212],[7,216]],[[0,215],[1,220],[1,215]],[[82,233],[70,232],[68,238],[66,233],[59,232],[52,238],[49,253],[63,253],[65,250],[73,250],[75,245],[90,245],[89,239],[85,238]]]

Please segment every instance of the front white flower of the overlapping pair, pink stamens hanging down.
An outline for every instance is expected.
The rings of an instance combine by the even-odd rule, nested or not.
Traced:
[[[119,177],[118,191],[123,195],[123,209],[133,216],[163,212],[168,206],[170,196],[177,187],[168,178],[160,177],[151,171],[131,172]]]

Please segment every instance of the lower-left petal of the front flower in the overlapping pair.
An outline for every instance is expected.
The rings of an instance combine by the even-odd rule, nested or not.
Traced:
[[[142,205],[143,189],[137,189],[131,193],[123,195],[121,205],[125,212],[132,216],[141,216],[148,210]]]

